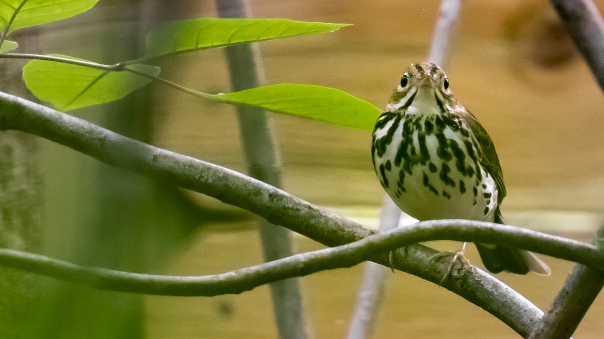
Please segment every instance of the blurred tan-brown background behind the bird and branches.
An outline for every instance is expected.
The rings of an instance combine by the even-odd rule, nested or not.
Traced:
[[[332,86],[384,107],[403,69],[427,55],[440,2],[249,4],[254,17],[353,24],[336,33],[261,43],[266,83]],[[604,9],[604,2],[597,5]],[[178,17],[216,16],[212,1],[190,1],[190,8]],[[94,17],[91,11],[79,20],[91,22]],[[94,34],[95,28],[82,29]],[[54,33],[48,51],[72,48],[70,34],[76,33],[68,28]],[[71,54],[103,61],[95,52],[85,47]],[[162,69],[163,77],[203,92],[230,88],[220,49],[170,57],[162,61]],[[508,192],[503,204],[507,221],[588,241],[604,212],[604,96],[549,2],[464,1],[445,71],[461,103],[495,142]],[[152,86],[152,95],[153,108],[159,112],[152,118],[153,144],[245,172],[233,107],[159,85]],[[98,120],[94,111],[75,114]],[[370,131],[291,116],[273,118],[284,189],[368,226],[376,224],[383,192],[371,166]],[[94,160],[50,143],[44,147],[48,222],[75,223],[70,213],[91,176],[82,163]],[[195,198],[239,213],[217,201]],[[253,226],[253,221],[213,223],[177,253],[162,258],[167,268],[161,272],[211,274],[257,264],[261,255]],[[48,249],[60,247],[64,239],[49,233]],[[296,240],[298,252],[320,248],[307,239]],[[456,249],[458,244],[437,246]],[[475,253],[469,253],[469,259],[480,262]],[[501,279],[546,309],[572,267],[551,258],[546,261],[553,268],[551,277],[502,274]],[[345,335],[361,270],[362,266],[303,278],[308,320],[317,338]],[[394,274],[389,284],[376,338],[515,337],[487,312],[443,288],[404,273]],[[240,296],[144,297],[144,309],[149,338],[276,336],[266,287]],[[576,337],[602,337],[603,311],[604,300],[597,300]]]

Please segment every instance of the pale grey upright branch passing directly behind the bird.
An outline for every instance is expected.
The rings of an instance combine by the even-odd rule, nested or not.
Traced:
[[[434,37],[428,55],[428,61],[443,66],[449,51],[451,37],[454,34],[455,22],[459,15],[459,0],[443,0],[440,6],[440,16],[434,30]],[[399,225],[400,209],[388,195],[385,195],[384,205],[380,214],[379,231],[384,232]],[[349,339],[371,337],[379,309],[384,296],[384,285],[388,268],[367,262],[365,275],[359,291],[355,315],[348,334]]]

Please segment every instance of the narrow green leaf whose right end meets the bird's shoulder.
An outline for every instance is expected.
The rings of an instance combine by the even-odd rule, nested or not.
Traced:
[[[309,84],[274,84],[210,97],[362,130],[373,130],[381,113],[373,104],[343,90]]]

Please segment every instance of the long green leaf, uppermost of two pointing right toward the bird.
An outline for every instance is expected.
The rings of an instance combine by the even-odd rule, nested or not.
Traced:
[[[290,19],[198,19],[166,22],[147,34],[147,57],[223,47],[235,43],[328,33],[349,24],[293,21]]]

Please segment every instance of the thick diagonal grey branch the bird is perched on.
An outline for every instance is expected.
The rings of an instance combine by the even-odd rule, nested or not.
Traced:
[[[266,183],[233,170],[153,147],[13,95],[0,93],[0,129],[20,130],[173,185],[191,189],[254,212],[327,246],[374,233]],[[435,250],[421,245],[395,252],[395,268],[438,284],[446,265],[432,265]],[[388,255],[374,258],[388,264]],[[542,312],[518,293],[481,271],[453,274],[442,286],[526,334]],[[504,296],[504,294],[506,294]],[[500,299],[493,300],[492,296]],[[501,300],[501,298],[507,298]]]

